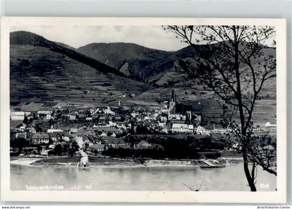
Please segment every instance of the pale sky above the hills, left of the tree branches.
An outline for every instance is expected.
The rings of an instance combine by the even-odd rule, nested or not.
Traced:
[[[133,42],[144,47],[176,51],[187,45],[162,26],[31,26],[11,31],[30,31],[48,40],[78,48],[92,42]]]

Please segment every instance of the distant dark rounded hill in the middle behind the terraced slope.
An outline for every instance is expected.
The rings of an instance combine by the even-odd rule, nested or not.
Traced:
[[[147,82],[147,78],[159,73],[162,68],[157,68],[172,55],[158,49],[150,49],[133,43],[92,43],[79,47],[78,52],[102,61],[113,68],[120,70],[128,77]]]

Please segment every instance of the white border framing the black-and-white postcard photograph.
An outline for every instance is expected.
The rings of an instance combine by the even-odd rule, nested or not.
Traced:
[[[271,25],[277,40],[277,191],[11,191],[9,33],[12,26],[225,24]],[[151,17],[1,17],[1,200],[138,203],[284,203],[286,202],[286,20]]]

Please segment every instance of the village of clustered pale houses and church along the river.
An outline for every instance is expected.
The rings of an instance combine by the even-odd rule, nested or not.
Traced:
[[[168,146],[168,143],[161,143],[161,138],[185,141],[189,146],[190,141],[186,139],[210,144],[207,139],[211,136],[219,136],[220,139],[232,134],[229,125],[203,123],[203,117],[193,111],[192,106],[179,103],[174,90],[168,104],[154,111],[125,111],[111,107],[11,111],[10,155],[70,153],[73,156],[81,149],[90,155],[131,157],[133,152],[143,150],[147,157],[181,157],[175,153],[173,156],[157,154]],[[269,122],[264,126],[257,125],[254,132],[271,132],[273,135],[276,125]],[[225,147],[216,143],[209,148],[194,149],[216,152]],[[178,148],[179,152],[184,150]],[[192,158],[191,154],[186,157]]]

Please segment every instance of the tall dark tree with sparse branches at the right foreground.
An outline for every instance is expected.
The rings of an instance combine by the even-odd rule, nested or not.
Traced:
[[[277,176],[276,143],[256,136],[254,107],[266,81],[276,77],[276,60],[265,42],[271,26],[163,26],[190,45],[190,58],[179,59],[177,69],[199,79],[225,102],[228,123],[234,130],[234,148],[243,155],[243,167],[251,191],[257,191],[257,164]],[[275,45],[275,41],[273,42]],[[236,142],[236,143],[235,143]],[[268,144],[270,143],[270,144]],[[251,164],[251,167],[249,167]]]

